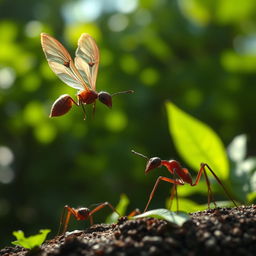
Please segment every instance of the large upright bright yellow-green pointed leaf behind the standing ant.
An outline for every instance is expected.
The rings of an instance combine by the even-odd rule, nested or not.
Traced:
[[[175,147],[195,170],[207,163],[217,176],[227,179],[229,164],[224,145],[218,135],[206,124],[186,114],[173,103],[166,103],[169,131]]]

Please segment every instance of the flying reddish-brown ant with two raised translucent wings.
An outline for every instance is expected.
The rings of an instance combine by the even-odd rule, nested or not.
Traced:
[[[76,57],[71,58],[66,48],[54,37],[42,33],[41,44],[52,71],[68,86],[77,89],[76,102],[68,94],[61,95],[52,105],[50,117],[66,114],[73,105],[82,106],[84,119],[86,118],[84,105],[93,104],[95,113],[96,100],[112,107],[112,97],[118,94],[133,93],[132,90],[116,92],[96,91],[100,54],[99,48],[89,34],[82,34],[78,40]]]

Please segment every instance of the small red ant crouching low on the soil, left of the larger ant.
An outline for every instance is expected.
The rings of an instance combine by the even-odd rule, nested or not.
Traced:
[[[60,226],[59,226],[59,231],[58,234],[64,234],[67,231],[68,228],[68,223],[70,221],[71,214],[74,215],[76,220],[90,220],[90,224],[93,225],[93,214],[105,206],[108,206],[113,212],[116,212],[119,217],[121,216],[120,213],[110,204],[109,202],[104,202],[96,206],[93,210],[90,210],[89,208],[86,207],[80,207],[80,208],[72,208],[68,205],[64,206],[64,210],[61,216],[60,220]],[[65,210],[67,210],[67,214],[65,216]],[[61,231],[61,227],[63,226],[63,229]]]

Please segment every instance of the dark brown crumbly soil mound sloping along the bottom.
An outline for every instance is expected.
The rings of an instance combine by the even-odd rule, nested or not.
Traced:
[[[181,227],[164,220],[119,219],[46,241],[41,249],[0,250],[1,256],[256,255],[256,205],[195,212]]]

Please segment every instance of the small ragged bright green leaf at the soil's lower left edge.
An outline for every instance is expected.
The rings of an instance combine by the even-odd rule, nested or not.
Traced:
[[[40,246],[45,241],[49,232],[51,232],[50,229],[41,229],[41,234],[25,237],[23,231],[14,231],[13,235],[16,237],[17,240],[13,241],[12,244],[22,246],[26,249],[33,249]]]

